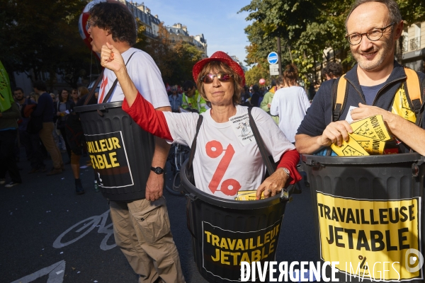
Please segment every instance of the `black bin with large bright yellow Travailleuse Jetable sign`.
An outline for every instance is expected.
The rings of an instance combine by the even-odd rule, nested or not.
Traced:
[[[339,282],[375,282],[383,275],[424,282],[424,156],[303,155],[302,168],[311,185],[319,256],[339,262]]]

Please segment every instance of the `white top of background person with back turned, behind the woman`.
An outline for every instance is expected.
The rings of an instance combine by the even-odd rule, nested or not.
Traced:
[[[279,127],[290,142],[295,142],[295,134],[309,107],[307,93],[300,86],[280,88],[273,96],[270,114],[279,116]]]

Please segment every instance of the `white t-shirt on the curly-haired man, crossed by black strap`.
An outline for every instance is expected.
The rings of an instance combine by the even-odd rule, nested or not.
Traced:
[[[127,71],[130,79],[135,84],[137,91],[139,91],[142,96],[149,101],[149,103],[152,103],[154,108],[170,106],[164,82],[162,81],[161,72],[152,57],[142,50],[130,48],[121,54],[125,63],[127,63],[131,54],[133,55],[127,64]],[[101,100],[103,100],[106,94],[108,94],[108,91],[111,89],[115,79],[117,79],[117,76],[115,76],[113,71],[105,69],[103,72],[101,88],[99,90],[98,103],[101,103]],[[123,89],[118,82],[108,102],[123,100]]]

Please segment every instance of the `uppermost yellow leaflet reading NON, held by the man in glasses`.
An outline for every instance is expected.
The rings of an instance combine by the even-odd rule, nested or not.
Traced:
[[[390,133],[385,127],[382,115],[375,115],[363,120],[351,123],[354,134],[369,137],[370,139],[378,139],[380,141],[388,141],[391,139]]]

